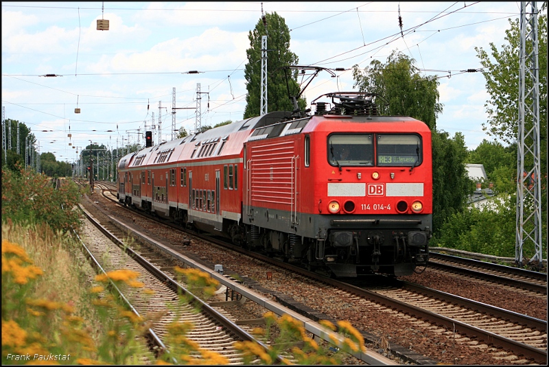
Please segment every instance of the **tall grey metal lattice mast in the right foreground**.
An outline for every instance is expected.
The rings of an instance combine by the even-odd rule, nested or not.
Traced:
[[[528,9],[529,8],[529,9]],[[517,235],[515,261],[522,265],[524,245],[533,244],[530,263],[541,263],[541,172],[539,156],[539,64],[537,5],[520,5],[519,121],[517,150]]]

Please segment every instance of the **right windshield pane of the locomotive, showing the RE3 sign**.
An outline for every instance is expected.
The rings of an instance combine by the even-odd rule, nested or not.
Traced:
[[[421,164],[417,134],[377,134],[377,165],[415,167]]]

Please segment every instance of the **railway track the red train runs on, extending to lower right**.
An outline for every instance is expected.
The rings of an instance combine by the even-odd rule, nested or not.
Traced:
[[[240,251],[235,246],[233,249]],[[257,256],[262,261],[272,262],[268,257]],[[343,292],[349,292],[351,298],[360,296],[369,302],[373,301],[388,309],[429,322],[434,329],[442,326],[439,328],[440,333],[454,333],[454,340],[457,342],[471,347],[487,348],[495,358],[522,358],[524,363],[546,363],[547,323],[544,320],[443,294],[434,289],[418,286],[414,289],[411,283],[401,283],[398,287],[387,289],[360,289],[325,276],[304,272],[291,264],[277,262],[276,265],[311,276],[321,283],[329,283]]]

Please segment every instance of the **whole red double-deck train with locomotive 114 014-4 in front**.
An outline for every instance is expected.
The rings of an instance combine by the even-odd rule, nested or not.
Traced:
[[[119,200],[336,276],[412,274],[432,233],[431,132],[377,115],[366,93],[324,97],[314,115],[269,113],[125,156]]]

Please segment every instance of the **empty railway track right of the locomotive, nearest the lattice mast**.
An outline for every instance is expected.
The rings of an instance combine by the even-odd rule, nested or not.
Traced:
[[[530,295],[547,298],[547,274],[506,265],[465,259],[438,252],[429,253],[429,268],[522,289]]]

